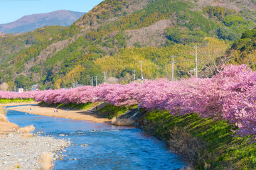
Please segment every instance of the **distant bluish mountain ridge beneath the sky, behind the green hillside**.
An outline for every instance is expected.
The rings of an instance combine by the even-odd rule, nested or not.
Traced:
[[[23,16],[17,21],[0,24],[0,32],[26,33],[44,26],[70,26],[85,13],[68,10],[53,11],[50,13],[33,14]]]

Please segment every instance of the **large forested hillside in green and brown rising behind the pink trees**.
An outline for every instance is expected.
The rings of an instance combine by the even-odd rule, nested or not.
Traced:
[[[140,61],[144,79],[171,78],[171,56],[181,79],[194,74],[195,45],[199,75],[210,75],[220,60],[241,64],[253,56],[255,6],[249,0],[102,1],[70,27],[1,35],[1,83],[10,90],[55,89],[89,85],[91,77],[102,83],[105,72],[107,82],[125,84],[133,70],[140,78]]]

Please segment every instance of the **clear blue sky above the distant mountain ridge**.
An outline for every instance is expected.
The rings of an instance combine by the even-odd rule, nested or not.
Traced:
[[[48,13],[60,9],[88,12],[102,0],[0,0],[0,24],[22,16]]]

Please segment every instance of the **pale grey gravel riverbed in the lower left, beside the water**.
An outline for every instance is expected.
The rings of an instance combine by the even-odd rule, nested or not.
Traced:
[[[45,137],[38,134],[23,136],[18,132],[0,135],[0,170],[43,169],[41,154],[53,153],[53,161],[63,155],[61,151],[70,146],[67,140]],[[65,151],[65,150],[64,150]]]

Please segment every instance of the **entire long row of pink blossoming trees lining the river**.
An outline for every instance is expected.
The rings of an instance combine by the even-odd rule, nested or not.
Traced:
[[[0,98],[34,98],[52,103],[107,101],[114,106],[166,110],[171,115],[197,113],[201,118],[228,120],[239,135],[256,134],[256,72],[246,65],[224,66],[212,78],[159,79],[141,84],[101,84],[75,89],[1,92]]]

